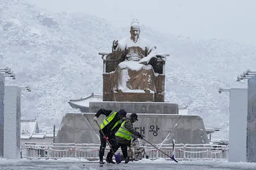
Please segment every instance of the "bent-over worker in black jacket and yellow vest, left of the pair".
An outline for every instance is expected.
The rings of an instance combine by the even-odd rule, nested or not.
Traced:
[[[126,111],[124,109],[119,110],[118,112],[113,110],[105,110],[100,109],[97,111],[94,117],[94,121],[98,122],[98,117],[100,115],[105,115],[105,119],[103,119],[103,122],[100,125],[100,128],[102,132],[105,134],[106,138],[104,138],[104,135],[101,133],[101,130],[99,130],[100,134],[100,140],[101,140],[101,146],[99,148],[99,163],[104,164],[103,162],[103,156],[107,144],[107,140],[109,140],[109,143],[114,146],[116,142],[114,142],[114,134],[121,126],[121,120],[126,117]],[[112,159],[106,159],[108,163],[115,163],[112,161]]]

